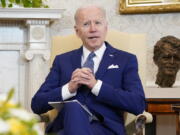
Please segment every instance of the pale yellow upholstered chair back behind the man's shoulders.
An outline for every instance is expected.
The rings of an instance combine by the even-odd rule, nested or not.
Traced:
[[[129,34],[116,30],[109,30],[106,41],[123,51],[137,56],[139,75],[142,84],[146,81],[146,36],[145,34]],[[82,45],[81,40],[75,35],[55,36],[52,40],[51,63],[56,55],[77,49]],[[144,87],[144,86],[143,86]]]

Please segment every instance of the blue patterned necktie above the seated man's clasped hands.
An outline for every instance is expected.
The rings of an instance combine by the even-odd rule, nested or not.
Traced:
[[[94,73],[94,61],[93,61],[94,56],[96,56],[96,54],[94,52],[91,52],[83,65],[83,67],[90,68],[93,73]]]

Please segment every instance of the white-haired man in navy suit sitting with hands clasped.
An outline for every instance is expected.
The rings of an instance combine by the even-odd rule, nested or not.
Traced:
[[[42,114],[52,109],[49,101],[76,99],[92,116],[78,103],[67,103],[47,127],[47,133],[125,135],[124,111],[137,115],[145,109],[137,59],[104,41],[108,27],[100,7],[79,8],[74,28],[83,46],[56,56],[32,99],[32,110]]]

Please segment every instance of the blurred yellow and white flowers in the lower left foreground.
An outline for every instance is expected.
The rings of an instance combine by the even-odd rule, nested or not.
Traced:
[[[14,90],[0,97],[0,135],[43,135],[37,115],[11,101]]]

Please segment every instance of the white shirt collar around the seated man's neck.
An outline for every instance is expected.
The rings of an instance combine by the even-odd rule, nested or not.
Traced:
[[[102,46],[97,49],[96,51],[94,51],[94,53],[96,54],[96,56],[98,58],[102,58],[104,52],[106,50],[106,45],[105,43],[103,42]],[[84,59],[87,59],[88,55],[90,54],[91,52],[83,45],[83,58]]]

